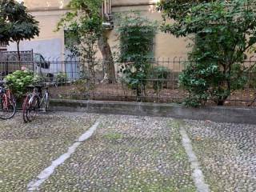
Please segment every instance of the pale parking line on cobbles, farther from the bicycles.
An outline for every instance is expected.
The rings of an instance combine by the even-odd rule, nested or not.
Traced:
[[[204,180],[202,170],[200,170],[199,162],[197,156],[194,154],[193,147],[190,138],[186,134],[186,130],[181,126],[180,134],[182,135],[182,145],[186,150],[186,154],[189,158],[191,168],[193,170],[192,177],[194,179],[194,185],[197,187],[198,192],[208,192],[209,186]]]

